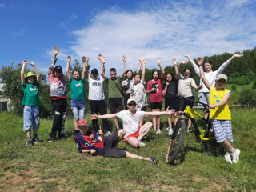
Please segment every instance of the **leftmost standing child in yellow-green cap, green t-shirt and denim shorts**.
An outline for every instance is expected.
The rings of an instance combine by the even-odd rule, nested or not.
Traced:
[[[22,80],[22,90],[24,91],[24,96],[22,100],[22,105],[24,105],[24,126],[23,130],[26,130],[27,142],[26,146],[33,146],[34,143],[40,143],[38,139],[38,128],[39,122],[39,78],[40,74],[37,67],[34,65],[33,61],[30,61],[31,66],[33,66],[36,76],[33,72],[27,72],[24,74],[26,68],[26,60],[22,61],[23,66],[21,70],[21,80]],[[31,139],[31,127],[33,126],[33,140]]]

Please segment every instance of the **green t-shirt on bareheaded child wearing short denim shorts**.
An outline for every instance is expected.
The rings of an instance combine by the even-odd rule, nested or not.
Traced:
[[[86,91],[84,88],[84,80],[75,80],[70,78],[70,99],[84,100],[86,99]]]

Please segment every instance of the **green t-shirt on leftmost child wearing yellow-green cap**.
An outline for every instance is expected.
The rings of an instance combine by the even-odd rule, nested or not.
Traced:
[[[22,85],[22,82],[21,82]],[[22,85],[22,90],[24,91],[24,96],[22,100],[22,106],[39,106],[39,83],[34,82],[34,84],[26,83]]]

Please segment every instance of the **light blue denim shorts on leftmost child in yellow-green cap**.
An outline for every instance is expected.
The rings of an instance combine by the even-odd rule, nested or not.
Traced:
[[[40,126],[39,121],[39,106],[25,106],[24,112],[24,126],[23,130],[31,130],[33,126],[33,130],[37,130]]]

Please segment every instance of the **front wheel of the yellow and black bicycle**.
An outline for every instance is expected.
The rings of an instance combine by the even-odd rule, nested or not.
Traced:
[[[177,158],[178,152],[181,149],[182,141],[185,135],[186,122],[178,120],[174,128],[174,133],[171,136],[170,144],[166,154],[166,163],[172,164]],[[179,134],[178,134],[179,131]]]

